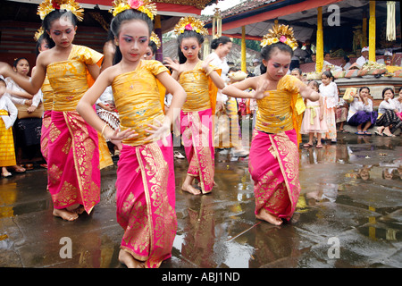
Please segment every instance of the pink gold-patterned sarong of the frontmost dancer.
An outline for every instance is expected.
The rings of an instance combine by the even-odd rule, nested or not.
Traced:
[[[117,221],[125,230],[121,249],[147,268],[172,256],[177,220],[172,136],[121,149],[116,181]]]

